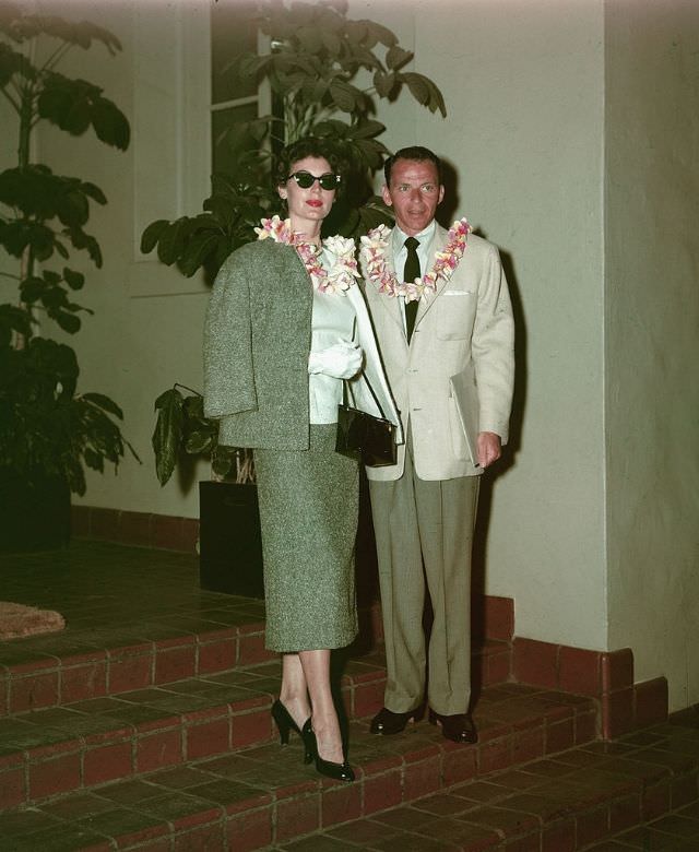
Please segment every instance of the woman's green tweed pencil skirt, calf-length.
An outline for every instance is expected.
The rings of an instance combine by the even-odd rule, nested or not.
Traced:
[[[311,425],[305,451],[254,450],[272,651],[343,648],[357,635],[359,466],[335,452],[335,431]]]

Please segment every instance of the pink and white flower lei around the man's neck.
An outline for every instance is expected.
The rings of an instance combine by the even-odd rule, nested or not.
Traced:
[[[443,250],[435,255],[435,263],[429,272],[415,281],[399,282],[395,272],[391,272],[386,262],[389,228],[379,225],[362,237],[362,259],[367,276],[376,284],[379,293],[386,296],[403,296],[405,301],[422,299],[437,291],[438,281],[449,281],[466,248],[466,237],[471,230],[465,218],[457,220],[449,229]]]

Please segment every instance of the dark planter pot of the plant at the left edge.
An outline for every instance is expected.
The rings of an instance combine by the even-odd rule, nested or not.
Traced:
[[[55,551],[70,542],[70,488],[64,480],[32,484],[0,468],[0,552]]]

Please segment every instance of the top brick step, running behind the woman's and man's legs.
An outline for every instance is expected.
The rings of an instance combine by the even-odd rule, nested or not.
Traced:
[[[506,599],[488,602],[488,613],[495,613],[489,618],[494,638],[474,638],[474,683],[491,685],[511,677],[511,634],[500,627],[508,604]],[[380,606],[375,603],[360,611],[360,636],[351,653],[380,647],[381,638]],[[197,618],[153,615],[104,632],[81,628],[79,623],[62,634],[5,643],[0,663],[0,718],[277,659],[279,654],[264,648],[261,601],[203,592]]]

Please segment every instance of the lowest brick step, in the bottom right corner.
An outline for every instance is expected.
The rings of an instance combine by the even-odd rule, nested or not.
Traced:
[[[699,724],[664,723],[587,743],[274,845],[280,852],[358,848],[696,852]]]

